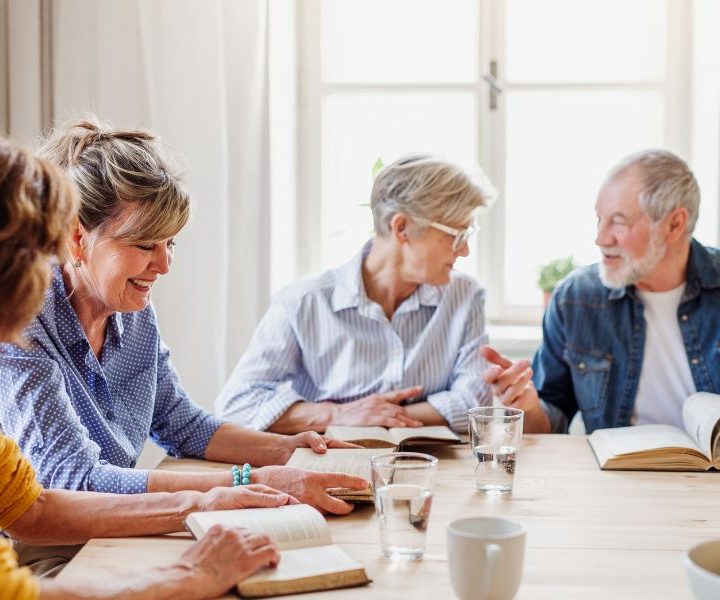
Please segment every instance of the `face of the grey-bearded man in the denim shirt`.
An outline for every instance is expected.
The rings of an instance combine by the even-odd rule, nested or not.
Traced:
[[[629,170],[606,182],[595,203],[600,278],[611,288],[637,283],[665,256],[662,233],[640,206],[641,191],[639,177]]]

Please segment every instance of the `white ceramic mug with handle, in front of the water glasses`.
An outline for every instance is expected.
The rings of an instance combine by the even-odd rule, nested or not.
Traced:
[[[522,523],[494,517],[453,521],[447,528],[450,582],[460,600],[511,600],[522,577]]]

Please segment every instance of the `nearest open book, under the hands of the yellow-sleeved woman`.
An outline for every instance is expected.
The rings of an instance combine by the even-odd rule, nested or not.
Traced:
[[[245,598],[264,598],[365,585],[365,569],[334,546],[323,516],[307,504],[192,513],[185,526],[198,539],[210,527],[244,527],[264,533],[280,549],[280,564],[237,585]]]

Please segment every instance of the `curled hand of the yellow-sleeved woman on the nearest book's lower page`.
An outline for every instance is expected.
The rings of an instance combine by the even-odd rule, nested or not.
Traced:
[[[215,598],[263,567],[276,567],[280,553],[266,535],[213,525],[180,557],[179,565],[196,574],[201,597]],[[200,597],[200,596],[198,596]]]

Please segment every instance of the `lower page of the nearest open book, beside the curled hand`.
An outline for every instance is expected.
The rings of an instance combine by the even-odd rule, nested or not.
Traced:
[[[275,569],[262,569],[240,582],[240,593],[244,586],[258,582],[285,581],[315,577],[329,573],[341,573],[363,566],[348,556],[337,546],[316,546],[296,550],[284,550],[280,554],[280,563]]]

